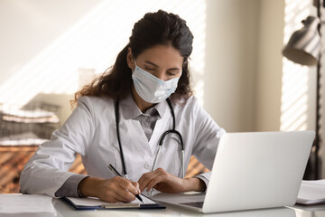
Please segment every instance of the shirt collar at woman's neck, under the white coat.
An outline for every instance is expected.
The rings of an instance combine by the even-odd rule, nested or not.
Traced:
[[[125,119],[135,119],[144,113],[136,106],[135,100],[133,99],[131,93],[121,100],[121,109]],[[163,100],[161,103],[157,103],[152,109],[155,109],[158,112],[159,119],[163,118],[163,115],[166,112],[168,105],[166,100]]]

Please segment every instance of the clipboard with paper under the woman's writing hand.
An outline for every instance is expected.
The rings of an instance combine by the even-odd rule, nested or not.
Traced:
[[[119,209],[137,209],[137,210],[153,210],[166,209],[166,206],[156,203],[150,198],[141,194],[144,203],[135,199],[131,203],[107,203],[100,201],[95,197],[76,198],[76,197],[61,197],[60,200],[67,203],[74,210],[119,210]]]

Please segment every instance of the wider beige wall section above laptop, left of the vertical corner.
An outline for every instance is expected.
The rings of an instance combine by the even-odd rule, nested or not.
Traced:
[[[259,6],[208,1],[204,108],[228,131],[255,130]]]

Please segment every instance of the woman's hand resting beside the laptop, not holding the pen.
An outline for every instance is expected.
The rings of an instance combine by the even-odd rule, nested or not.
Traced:
[[[205,183],[199,178],[182,179],[167,173],[164,169],[158,168],[153,172],[141,176],[138,183],[141,192],[152,188],[163,193],[184,193],[190,191],[201,191]]]

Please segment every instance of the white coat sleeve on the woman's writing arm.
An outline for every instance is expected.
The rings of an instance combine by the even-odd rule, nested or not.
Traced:
[[[68,172],[79,153],[84,156],[94,135],[95,124],[88,98],[80,98],[78,108],[60,130],[51,135],[51,141],[39,146],[24,165],[20,178],[23,193],[54,193],[73,175]]]

